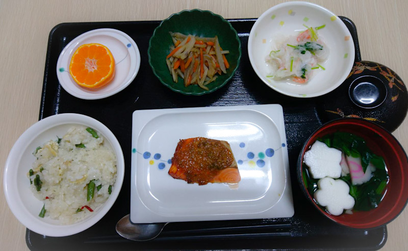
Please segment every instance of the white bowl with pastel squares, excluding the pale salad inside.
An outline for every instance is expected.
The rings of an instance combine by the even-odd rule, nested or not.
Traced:
[[[266,76],[271,69],[266,57],[277,44],[306,28],[326,26],[318,31],[319,38],[329,49],[324,63],[325,70],[319,69],[307,83],[291,80],[274,80]],[[310,98],[333,91],[347,78],[354,63],[354,43],[343,21],[329,10],[307,2],[288,2],[276,5],[253,24],[248,39],[248,55],[253,70],[273,90],[292,97]]]

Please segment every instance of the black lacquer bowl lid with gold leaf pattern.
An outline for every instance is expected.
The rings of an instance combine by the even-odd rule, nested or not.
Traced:
[[[408,93],[401,78],[387,66],[360,61],[342,85],[324,95],[318,105],[322,122],[363,118],[394,131],[408,111]]]

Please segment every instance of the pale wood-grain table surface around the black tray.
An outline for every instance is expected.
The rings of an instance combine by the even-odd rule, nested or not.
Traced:
[[[38,120],[49,31],[62,22],[162,20],[184,9],[211,10],[224,18],[259,17],[284,1],[24,1],[0,0],[1,174],[14,142]],[[363,60],[382,63],[408,81],[406,0],[310,1],[354,21]],[[243,48],[246,49],[246,48]],[[408,150],[408,123],[393,133]],[[3,179],[1,179],[3,188]],[[0,249],[25,250],[25,227],[0,192]],[[408,246],[408,209],[388,225],[383,250]],[[197,247],[199,248],[199,247]]]

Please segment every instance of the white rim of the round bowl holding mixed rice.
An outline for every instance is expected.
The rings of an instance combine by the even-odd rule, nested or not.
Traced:
[[[17,170],[19,163],[21,162],[21,156],[23,153],[29,151],[27,146],[30,145],[35,138],[41,133],[47,131],[50,128],[61,126],[65,124],[81,124],[94,128],[100,132],[107,141],[111,144],[113,151],[117,157],[117,178],[114,189],[108,200],[103,204],[94,215],[85,218],[83,221],[77,222],[72,225],[53,225],[41,220],[40,217],[33,217],[18,196],[17,192],[17,179],[26,179],[27,177],[17,177]],[[65,133],[65,132],[64,132]],[[24,149],[24,151],[21,151]],[[15,168],[17,166],[17,168]],[[7,158],[4,171],[4,191],[7,203],[13,212],[14,216],[28,229],[46,236],[68,236],[80,233],[99,221],[110,210],[115,203],[120,189],[122,187],[124,177],[124,158],[123,152],[117,141],[115,135],[99,121],[81,114],[58,114],[42,119],[33,124],[18,138],[10,154]],[[31,190],[28,189],[31,193]],[[33,199],[37,200],[34,195]]]

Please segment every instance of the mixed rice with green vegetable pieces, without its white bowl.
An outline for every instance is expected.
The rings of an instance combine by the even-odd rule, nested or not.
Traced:
[[[116,156],[104,144],[103,136],[95,138],[86,128],[72,126],[59,144],[51,140],[42,145],[36,150],[37,159],[32,165],[34,174],[30,179],[33,181],[39,175],[42,184],[37,191],[32,182],[31,190],[45,203],[45,217],[57,219],[61,224],[73,224],[92,215],[94,209],[108,200],[108,188],[116,181]],[[84,147],[75,146],[81,144]],[[87,201],[90,181],[95,184],[94,196]]]

